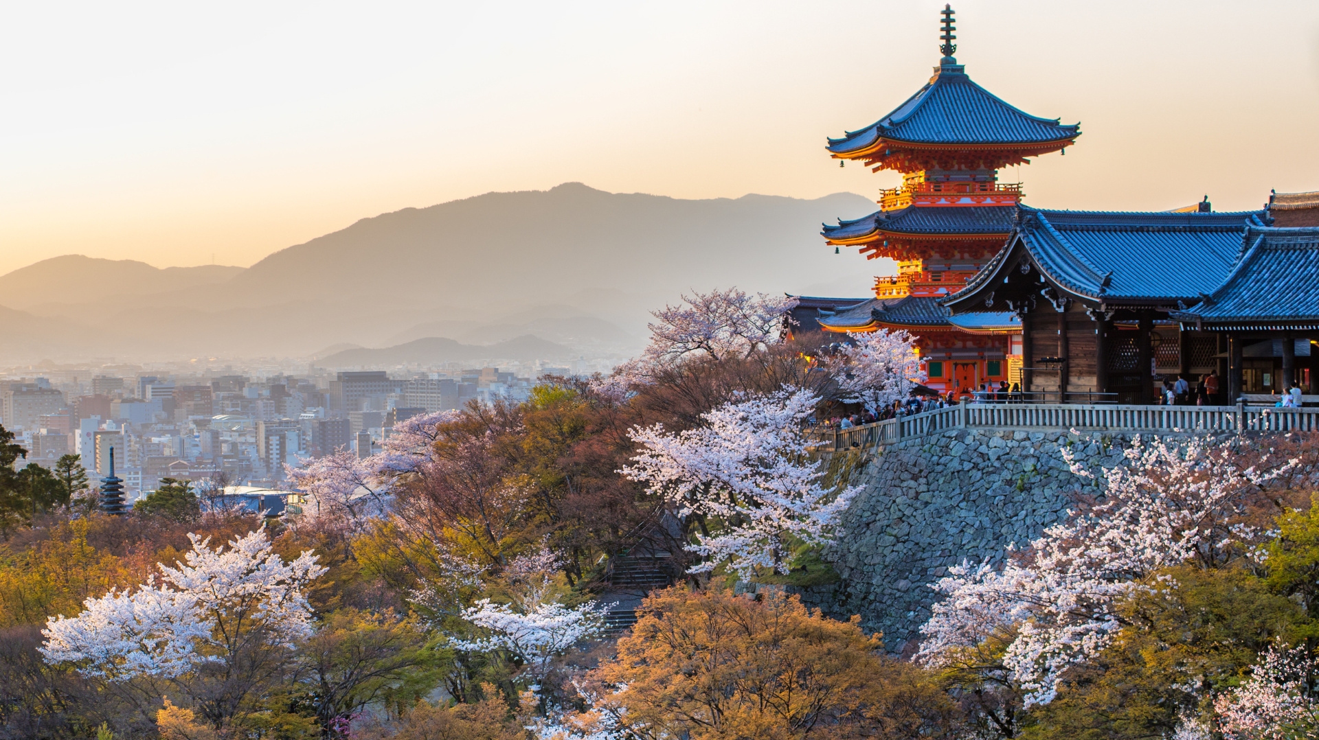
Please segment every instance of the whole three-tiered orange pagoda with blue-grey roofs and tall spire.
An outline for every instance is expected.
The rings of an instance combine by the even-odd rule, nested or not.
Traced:
[[[930,82],[827,146],[836,160],[902,174],[901,187],[880,191],[878,211],[823,231],[835,248],[896,260],[898,274],[877,277],[872,299],[814,299],[822,306],[813,318],[824,331],[909,330],[930,360],[929,385],[966,393],[1016,380],[1008,360],[1020,357],[1012,338],[1020,342],[1021,324],[1002,311],[948,317],[939,301],[979,273],[1013,231],[1021,185],[1000,182],[998,170],[1062,152],[1080,124],[1031,116],[972,82],[952,55],[954,11],[940,13],[943,57]]]

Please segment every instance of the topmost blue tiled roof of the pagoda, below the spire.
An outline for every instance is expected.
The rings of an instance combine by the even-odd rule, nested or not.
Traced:
[[[938,74],[878,121],[830,139],[828,150],[847,154],[880,139],[914,144],[1045,144],[1080,135],[1080,124],[1062,125],[1009,106],[967,77],[962,65]]]

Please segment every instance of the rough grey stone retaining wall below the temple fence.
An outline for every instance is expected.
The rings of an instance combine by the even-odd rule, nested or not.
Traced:
[[[929,584],[963,559],[1001,559],[1066,516],[1095,483],[1071,472],[1070,445],[1089,470],[1112,468],[1129,437],[1112,433],[959,429],[876,450],[851,476],[864,485],[826,558],[842,583],[802,591],[839,619],[860,615],[897,653],[930,616]]]

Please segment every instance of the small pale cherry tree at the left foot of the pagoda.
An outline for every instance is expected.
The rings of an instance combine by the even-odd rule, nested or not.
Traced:
[[[853,334],[852,343],[820,356],[819,364],[834,376],[844,402],[874,413],[926,381],[915,340],[906,330]]]

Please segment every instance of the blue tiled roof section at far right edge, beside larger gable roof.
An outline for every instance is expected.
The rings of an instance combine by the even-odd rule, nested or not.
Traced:
[[[1208,298],[1173,318],[1240,326],[1319,323],[1319,227],[1252,226],[1245,241],[1245,257]]]

